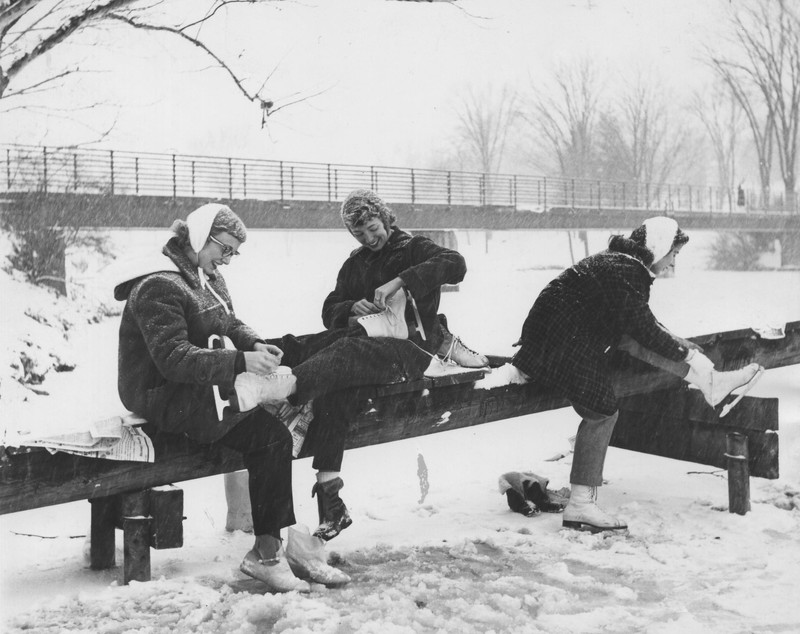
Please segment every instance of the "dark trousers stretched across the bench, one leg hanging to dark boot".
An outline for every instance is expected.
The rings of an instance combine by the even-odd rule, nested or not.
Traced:
[[[367,337],[361,326],[302,335],[268,343],[283,350],[283,365],[297,377],[298,403],[314,400],[314,420],[303,454],[313,467],[340,471],[350,421],[357,414],[355,389],[421,379],[430,356],[402,339]]]

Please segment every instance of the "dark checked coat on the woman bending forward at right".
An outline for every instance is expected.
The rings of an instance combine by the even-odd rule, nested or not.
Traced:
[[[667,359],[686,357],[686,348],[650,310],[653,279],[641,260],[625,253],[609,250],[581,260],[539,294],[513,364],[574,404],[614,413],[609,358],[622,335]]]

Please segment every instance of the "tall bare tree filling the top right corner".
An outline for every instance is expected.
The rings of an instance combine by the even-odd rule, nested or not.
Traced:
[[[744,109],[759,150],[762,190],[769,201],[773,139],[785,203],[796,204],[800,127],[800,14],[787,0],[732,5],[730,55],[709,54],[712,68],[730,85]]]

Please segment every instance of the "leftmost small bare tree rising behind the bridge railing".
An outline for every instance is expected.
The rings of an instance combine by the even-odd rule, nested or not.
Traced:
[[[470,89],[457,109],[458,135],[484,174],[494,174],[503,163],[509,131],[518,110],[516,91],[508,86]]]

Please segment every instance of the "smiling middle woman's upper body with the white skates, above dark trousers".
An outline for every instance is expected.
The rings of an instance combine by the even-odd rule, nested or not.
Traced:
[[[464,279],[463,256],[400,229],[394,212],[369,189],[352,191],[340,213],[361,247],[345,260],[323,303],[325,327],[357,322],[371,334],[408,338],[458,365],[487,366],[488,359],[465,346],[438,314],[442,285]]]

